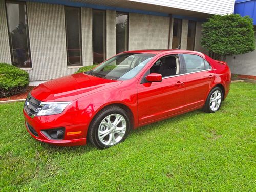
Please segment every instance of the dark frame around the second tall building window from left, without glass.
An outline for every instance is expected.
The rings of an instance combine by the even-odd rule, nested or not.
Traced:
[[[80,64],[71,64],[69,65],[69,54],[68,54],[68,39],[67,39],[67,20],[66,20],[66,10],[65,8],[66,7],[72,7],[72,8],[78,8],[79,9],[79,12],[80,12],[80,20],[79,20],[79,24],[80,24],[80,29],[79,29],[79,39],[80,39],[80,60],[81,60],[81,63]],[[82,66],[82,12],[81,12],[81,7],[74,7],[74,6],[64,6],[64,18],[65,18],[65,39],[66,39],[66,54],[67,54],[67,66],[68,67],[72,67],[72,66]]]

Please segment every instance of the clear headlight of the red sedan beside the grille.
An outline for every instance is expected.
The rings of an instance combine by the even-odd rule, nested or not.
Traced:
[[[69,104],[69,102],[59,102],[59,103],[49,103],[47,102],[41,102],[41,108],[38,108],[36,110],[37,116],[43,116],[43,115],[54,115],[62,113],[63,110],[66,108],[66,106]]]

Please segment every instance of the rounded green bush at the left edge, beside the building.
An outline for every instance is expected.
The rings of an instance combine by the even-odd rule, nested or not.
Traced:
[[[7,63],[0,63],[0,97],[8,97],[26,90],[29,74]]]

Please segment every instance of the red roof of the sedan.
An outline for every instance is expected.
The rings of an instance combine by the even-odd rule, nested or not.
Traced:
[[[124,51],[122,53],[150,53],[150,54],[160,54],[160,53],[169,53],[169,54],[177,54],[177,53],[188,53],[188,54],[197,54],[203,57],[204,54],[198,51],[190,51],[190,50],[182,50],[182,49],[144,49],[144,50],[131,50],[131,51]]]

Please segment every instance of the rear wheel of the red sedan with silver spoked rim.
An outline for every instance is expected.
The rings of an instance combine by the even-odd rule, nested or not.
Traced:
[[[207,100],[204,104],[203,111],[207,113],[217,112],[222,104],[223,93],[219,87],[212,89],[207,97]]]

